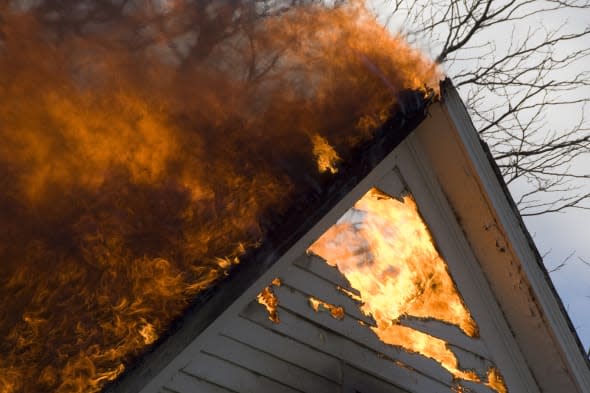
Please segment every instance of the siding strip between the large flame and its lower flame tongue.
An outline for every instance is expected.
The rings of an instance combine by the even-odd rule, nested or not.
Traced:
[[[438,337],[455,347],[473,352],[483,358],[490,359],[489,351],[482,338],[471,338],[457,326],[437,320],[424,320],[417,318],[403,318],[400,323],[421,332]]]

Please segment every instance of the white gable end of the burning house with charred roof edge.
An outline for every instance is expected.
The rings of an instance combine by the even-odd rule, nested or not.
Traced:
[[[408,136],[366,147],[354,182],[285,222],[295,235],[236,268],[107,391],[589,391],[506,186],[450,83],[441,95],[408,102],[391,123]]]

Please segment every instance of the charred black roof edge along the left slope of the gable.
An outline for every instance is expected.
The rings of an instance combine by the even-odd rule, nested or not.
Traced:
[[[132,364],[126,364],[125,371],[102,391],[139,392],[390,154],[426,118],[434,101],[432,95],[425,97],[410,90],[402,91],[398,99],[392,116],[371,141],[361,143],[352,157],[338,165],[336,174],[326,174],[325,184],[307,204],[294,206],[284,217],[278,217],[279,224],[271,224],[272,233],[259,247],[247,250],[225,278],[197,295],[184,314]],[[305,214],[301,214],[302,210]]]

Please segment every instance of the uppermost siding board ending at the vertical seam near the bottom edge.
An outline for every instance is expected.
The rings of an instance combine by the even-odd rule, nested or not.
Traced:
[[[279,359],[296,364],[333,382],[341,382],[339,359],[245,318],[236,318],[235,323],[224,327],[220,334],[273,353]]]

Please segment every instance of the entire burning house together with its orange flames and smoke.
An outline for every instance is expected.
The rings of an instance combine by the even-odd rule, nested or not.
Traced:
[[[33,3],[1,392],[590,392],[456,91],[361,2]]]

